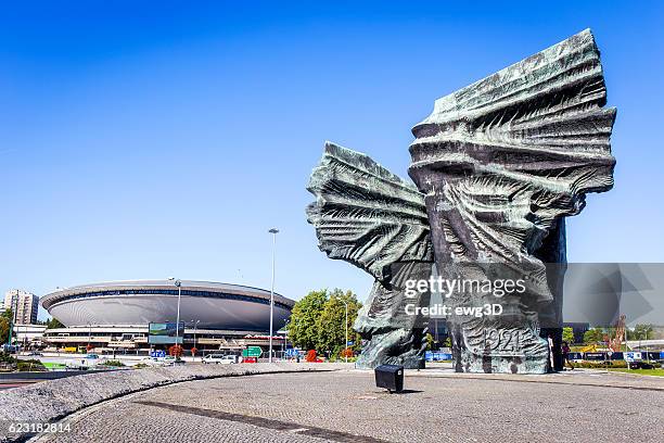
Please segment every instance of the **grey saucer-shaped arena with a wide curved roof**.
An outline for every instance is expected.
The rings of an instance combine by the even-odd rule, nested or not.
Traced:
[[[179,280],[178,280],[179,281]],[[238,284],[181,280],[113,281],[66,288],[41,298],[41,305],[65,328],[48,329],[49,347],[98,352],[165,349],[151,344],[149,325],[175,322],[180,294],[183,347],[266,349],[270,292]],[[273,331],[282,329],[295,302],[274,294]],[[283,338],[272,338],[273,349]]]

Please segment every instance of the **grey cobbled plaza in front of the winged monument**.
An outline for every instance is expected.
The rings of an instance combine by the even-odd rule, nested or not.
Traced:
[[[408,371],[401,394],[373,372],[272,374],[190,381],[73,415],[52,442],[662,441],[664,380],[597,371],[552,376]]]

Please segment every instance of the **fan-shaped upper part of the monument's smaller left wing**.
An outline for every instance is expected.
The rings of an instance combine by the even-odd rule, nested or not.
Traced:
[[[307,190],[319,248],[381,281],[395,262],[433,262],[424,197],[369,156],[325,143]]]

